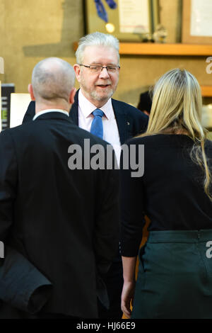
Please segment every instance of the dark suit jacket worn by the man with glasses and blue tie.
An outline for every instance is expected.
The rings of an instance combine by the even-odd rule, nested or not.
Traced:
[[[135,135],[145,132],[148,125],[148,116],[143,112],[139,111],[134,106],[130,106],[121,101],[117,101],[112,98],[112,107],[114,109],[114,115],[117,120],[117,126],[119,130],[119,137],[121,145],[126,142],[126,140],[134,137]],[[35,115],[35,102],[31,101],[28,110],[26,111],[23,123],[32,120]],[[74,103],[71,107],[69,116],[73,123],[78,125],[78,91],[74,98]]]

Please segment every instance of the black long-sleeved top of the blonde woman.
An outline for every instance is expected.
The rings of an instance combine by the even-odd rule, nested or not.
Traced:
[[[212,202],[204,192],[204,172],[189,156],[193,144],[187,135],[165,134],[127,143],[129,149],[136,145],[137,162],[139,145],[144,145],[144,174],[133,178],[134,170],[120,172],[123,256],[137,255],[144,215],[151,220],[148,231],[212,228]],[[207,140],[205,147],[212,161],[212,142]]]

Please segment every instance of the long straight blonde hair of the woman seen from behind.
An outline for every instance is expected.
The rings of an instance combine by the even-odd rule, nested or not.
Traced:
[[[210,194],[211,173],[205,153],[207,130],[201,126],[201,88],[196,78],[185,69],[166,72],[154,86],[153,103],[146,133],[187,134],[194,140],[192,160],[204,170],[204,191]]]

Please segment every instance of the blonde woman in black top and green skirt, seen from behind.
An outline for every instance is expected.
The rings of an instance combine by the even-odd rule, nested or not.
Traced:
[[[155,84],[146,133],[128,142],[136,154],[144,145],[145,157],[140,178],[121,171],[127,317],[212,318],[212,142],[201,107],[195,77],[172,69]],[[150,233],[139,251],[144,215]]]

